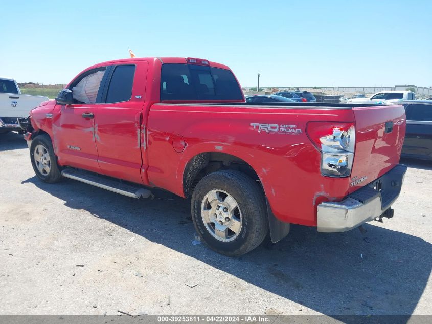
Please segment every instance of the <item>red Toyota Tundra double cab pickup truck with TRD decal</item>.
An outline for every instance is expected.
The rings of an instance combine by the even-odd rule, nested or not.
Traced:
[[[222,64],[132,58],[84,70],[19,123],[42,181],[191,197],[202,241],[226,255],[290,223],[340,232],[393,216],[402,106],[244,101]]]

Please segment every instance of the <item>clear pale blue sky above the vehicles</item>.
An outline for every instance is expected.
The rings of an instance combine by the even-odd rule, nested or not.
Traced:
[[[4,1],[0,75],[67,83],[105,60],[200,57],[243,87],[432,86],[432,1]]]

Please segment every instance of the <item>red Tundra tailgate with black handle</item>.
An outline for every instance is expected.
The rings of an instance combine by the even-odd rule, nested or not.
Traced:
[[[399,163],[405,136],[405,110],[401,105],[353,107],[353,112],[356,147],[350,193]]]

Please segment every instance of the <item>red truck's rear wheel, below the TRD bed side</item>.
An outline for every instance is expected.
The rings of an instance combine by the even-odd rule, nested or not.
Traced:
[[[245,254],[268,232],[264,193],[242,172],[222,170],[202,178],[193,192],[191,210],[202,241],[221,254]]]

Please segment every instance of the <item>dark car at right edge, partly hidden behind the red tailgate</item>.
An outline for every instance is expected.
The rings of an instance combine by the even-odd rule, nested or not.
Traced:
[[[402,157],[432,160],[432,102],[402,101],[406,113],[406,133]]]

